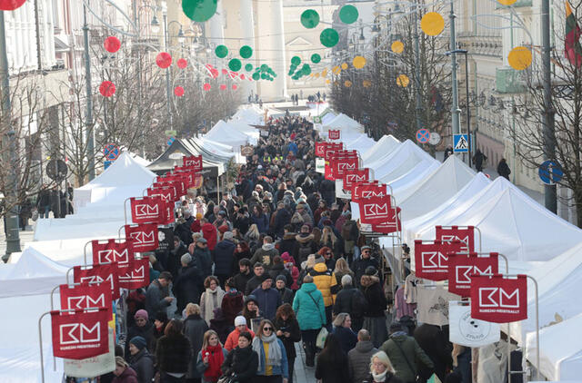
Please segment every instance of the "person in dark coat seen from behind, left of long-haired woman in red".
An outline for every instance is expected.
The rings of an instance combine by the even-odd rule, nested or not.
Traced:
[[[166,335],[157,341],[156,363],[161,383],[176,382],[176,378],[184,378],[188,372],[192,345],[182,334],[182,327],[180,320],[170,320],[166,326]]]

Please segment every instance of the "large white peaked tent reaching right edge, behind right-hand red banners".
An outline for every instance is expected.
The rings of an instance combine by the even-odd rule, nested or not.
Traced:
[[[503,177],[456,209],[425,222],[415,238],[434,240],[436,225],[476,226],[483,234],[483,250],[503,253],[509,260],[551,260],[582,241],[580,229]]]

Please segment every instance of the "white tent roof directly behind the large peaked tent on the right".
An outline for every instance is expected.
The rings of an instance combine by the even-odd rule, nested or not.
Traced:
[[[476,173],[465,162],[455,155],[449,156],[424,182],[420,182],[406,195],[400,195],[398,206],[402,209],[402,221],[437,209],[475,176]]]

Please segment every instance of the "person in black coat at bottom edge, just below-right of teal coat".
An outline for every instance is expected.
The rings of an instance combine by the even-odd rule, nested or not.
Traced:
[[[335,334],[328,334],[324,349],[317,356],[316,379],[322,383],[348,383],[347,356]]]

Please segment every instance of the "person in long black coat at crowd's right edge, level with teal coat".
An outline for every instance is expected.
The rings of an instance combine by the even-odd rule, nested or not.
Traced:
[[[366,271],[360,283],[364,298],[366,298],[363,328],[370,331],[374,347],[379,347],[388,338],[384,313],[387,304],[386,295],[377,277],[377,271],[373,268]]]

